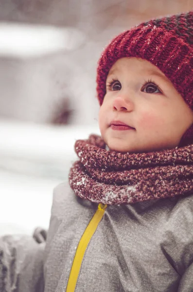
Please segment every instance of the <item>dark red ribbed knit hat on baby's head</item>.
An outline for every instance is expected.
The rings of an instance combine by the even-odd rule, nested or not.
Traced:
[[[123,57],[140,57],[159,68],[193,110],[193,11],[143,22],[115,37],[98,62],[97,95],[100,105],[106,93],[106,77]],[[180,146],[193,143],[193,126]]]

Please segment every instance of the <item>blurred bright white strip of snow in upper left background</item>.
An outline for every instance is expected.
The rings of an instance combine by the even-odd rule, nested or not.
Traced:
[[[0,23],[0,55],[35,57],[69,51],[85,40],[75,28],[59,28],[49,25]]]

